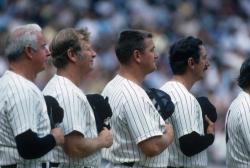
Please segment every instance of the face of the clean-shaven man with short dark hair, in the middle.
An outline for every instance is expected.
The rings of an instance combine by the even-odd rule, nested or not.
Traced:
[[[153,72],[157,69],[156,61],[158,56],[155,54],[155,45],[152,38],[145,39],[145,50],[142,52],[143,61],[142,68],[146,71],[146,73]]]

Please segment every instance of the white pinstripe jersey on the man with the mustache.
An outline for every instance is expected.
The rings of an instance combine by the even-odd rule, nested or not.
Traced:
[[[169,165],[173,167],[206,167],[208,162],[206,150],[187,157],[180,150],[178,140],[192,131],[204,135],[202,111],[198,101],[183,84],[176,81],[165,83],[161,90],[168,93],[175,104],[175,111],[169,119],[174,129],[174,141],[169,146]]]

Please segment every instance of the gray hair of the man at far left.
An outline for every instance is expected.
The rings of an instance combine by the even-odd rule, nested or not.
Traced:
[[[37,49],[37,32],[42,29],[37,24],[26,24],[14,28],[7,39],[5,55],[9,61],[15,61],[21,57],[25,47]]]

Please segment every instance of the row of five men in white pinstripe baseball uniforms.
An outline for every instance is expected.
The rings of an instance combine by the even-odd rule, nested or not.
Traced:
[[[214,122],[205,116],[204,127],[201,106],[190,92],[209,67],[202,41],[186,37],[170,48],[173,77],[160,90],[170,95],[175,110],[164,120],[143,89],[145,76],[157,69],[153,35],[122,31],[115,47],[119,70],[102,92],[112,110],[111,129],[97,132],[94,112],[79,88],[96,57],[89,36],[87,29],[63,29],[49,51],[36,24],[10,33],[9,70],[0,79],[0,167],[207,167]],[[41,92],[32,81],[50,55],[57,72]],[[249,73],[248,59],[238,80],[243,90],[227,115],[228,167],[250,164]],[[58,128],[50,125],[43,95],[56,98],[64,110]]]

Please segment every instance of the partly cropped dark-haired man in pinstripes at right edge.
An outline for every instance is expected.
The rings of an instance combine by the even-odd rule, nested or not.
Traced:
[[[226,164],[230,168],[250,167],[250,58],[240,69],[238,85],[242,91],[226,116]]]

